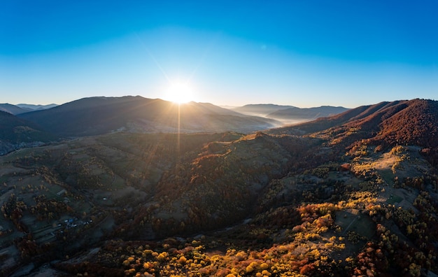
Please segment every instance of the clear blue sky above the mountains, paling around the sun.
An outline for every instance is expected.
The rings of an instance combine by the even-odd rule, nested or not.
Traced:
[[[438,99],[438,2],[0,1],[0,103]]]

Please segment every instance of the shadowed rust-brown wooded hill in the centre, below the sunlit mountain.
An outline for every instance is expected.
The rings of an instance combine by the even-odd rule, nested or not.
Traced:
[[[164,174],[157,197],[174,203],[167,212],[181,211],[181,218],[190,223],[188,229],[225,226],[248,215],[269,181],[283,178],[319,143],[261,132],[232,142],[207,143],[198,157]],[[177,203],[183,205],[176,208]]]

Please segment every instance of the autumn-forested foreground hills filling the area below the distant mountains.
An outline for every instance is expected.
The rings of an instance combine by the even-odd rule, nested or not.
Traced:
[[[437,101],[1,157],[1,274],[438,273]],[[433,276],[433,275],[430,275]]]

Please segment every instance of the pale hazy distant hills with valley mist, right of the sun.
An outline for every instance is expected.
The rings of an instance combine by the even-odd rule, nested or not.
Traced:
[[[297,108],[295,106],[280,106],[275,104],[250,104],[233,108],[232,110],[246,115],[273,118],[285,123],[297,123],[344,113],[344,111],[348,111],[348,108],[334,106]]]

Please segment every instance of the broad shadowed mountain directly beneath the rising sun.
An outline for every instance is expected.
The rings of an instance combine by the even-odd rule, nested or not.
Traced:
[[[143,97],[92,97],[20,115],[62,136],[128,132],[254,132],[278,124],[211,104],[171,103]]]

